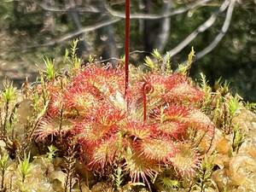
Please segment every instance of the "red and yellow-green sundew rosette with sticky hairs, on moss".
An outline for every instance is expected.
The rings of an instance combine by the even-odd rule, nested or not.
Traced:
[[[89,63],[44,82],[49,104],[36,141],[74,144],[90,170],[108,175],[120,165],[133,182],[150,185],[164,169],[195,174],[215,129],[201,111],[204,92],[184,72],[131,67],[124,96],[124,71]]]

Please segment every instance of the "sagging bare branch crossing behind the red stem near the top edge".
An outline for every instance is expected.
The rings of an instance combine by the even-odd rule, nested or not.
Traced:
[[[173,15],[179,15],[179,14],[183,14],[187,11],[189,11],[190,9],[195,9],[198,6],[202,6],[208,2],[210,2],[211,0],[199,0],[195,3],[189,3],[189,5],[184,6],[183,8],[180,9],[176,9],[173,10],[171,12],[168,13],[164,13],[164,14],[159,14],[159,15],[154,15],[154,14],[131,14],[131,19],[143,19],[143,20],[159,20],[162,18],[166,18],[166,17],[170,17]],[[125,14],[116,10],[113,10],[108,3],[105,3],[105,8],[108,10],[109,14],[119,17],[119,18],[125,18]]]

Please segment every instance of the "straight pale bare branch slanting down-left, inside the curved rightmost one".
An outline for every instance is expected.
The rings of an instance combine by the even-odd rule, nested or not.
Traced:
[[[190,33],[189,36],[187,38],[183,39],[183,41],[180,44],[178,44],[175,48],[168,51],[166,53],[166,55],[169,55],[169,56],[177,55],[177,53],[179,53],[191,41],[193,41],[197,37],[198,34],[200,34],[201,32],[205,32],[207,30],[207,28],[212,26],[213,23],[215,22],[215,20],[217,20],[218,15],[220,13],[224,12],[224,10],[228,8],[229,4],[230,4],[230,0],[225,0],[224,3],[222,3],[222,5],[220,6],[220,8],[216,12],[214,12],[207,21],[205,21],[203,24],[201,24],[201,26],[198,26],[194,32]]]

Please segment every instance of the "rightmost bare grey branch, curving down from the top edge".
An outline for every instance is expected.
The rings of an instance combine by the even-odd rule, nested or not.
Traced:
[[[224,35],[226,34],[226,32],[229,29],[233,10],[234,10],[235,4],[236,4],[236,0],[230,0],[230,1],[231,1],[230,6],[227,11],[226,18],[224,20],[224,24],[222,26],[221,31],[218,33],[216,38],[214,38],[214,40],[212,41],[211,44],[209,44],[205,49],[202,49],[198,54],[196,54],[195,60],[199,60],[204,55],[207,55],[208,53],[210,53],[212,51],[212,49],[214,49],[218,45],[218,43],[221,41],[221,39],[224,38]]]

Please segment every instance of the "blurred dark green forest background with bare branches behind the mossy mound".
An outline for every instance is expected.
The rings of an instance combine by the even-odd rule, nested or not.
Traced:
[[[0,0],[0,80],[20,86],[36,79],[43,57],[57,67],[73,38],[78,55],[102,60],[124,55],[125,0]],[[131,0],[131,63],[153,49],[185,61],[192,46],[209,82],[222,77],[245,100],[256,101],[255,0]],[[112,59],[110,61],[115,62]]]

